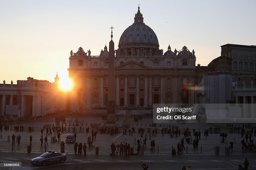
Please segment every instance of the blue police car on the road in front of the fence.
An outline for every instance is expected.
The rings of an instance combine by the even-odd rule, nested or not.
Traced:
[[[37,158],[31,159],[31,165],[48,165],[52,163],[64,163],[67,160],[66,154],[48,151]]]

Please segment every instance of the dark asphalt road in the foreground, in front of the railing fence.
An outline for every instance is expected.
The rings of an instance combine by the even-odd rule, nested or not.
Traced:
[[[0,162],[19,163],[20,167],[0,167],[0,169],[90,169],[90,170],[141,170],[141,165],[146,163],[153,170],[180,170],[183,165],[191,169],[238,169],[244,162],[244,155],[218,155],[218,156],[106,156],[106,155],[67,155],[63,164],[51,164],[46,167],[32,166],[30,160],[40,154],[34,153],[0,153]],[[256,169],[256,155],[248,155],[249,169]]]

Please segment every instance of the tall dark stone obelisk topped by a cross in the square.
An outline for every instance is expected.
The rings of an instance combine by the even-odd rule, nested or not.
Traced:
[[[115,48],[113,38],[113,27],[111,27],[111,41],[109,42],[109,69],[108,69],[108,101],[107,101],[107,124],[115,124],[115,75],[114,57]]]

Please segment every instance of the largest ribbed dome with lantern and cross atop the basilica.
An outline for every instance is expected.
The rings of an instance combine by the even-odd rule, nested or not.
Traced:
[[[129,53],[131,48],[143,48],[149,51],[159,50],[159,43],[155,32],[143,22],[143,17],[138,7],[134,23],[125,29],[119,40],[119,50],[126,49]]]

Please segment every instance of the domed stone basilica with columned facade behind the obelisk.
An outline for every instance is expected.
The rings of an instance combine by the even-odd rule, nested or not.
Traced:
[[[190,52],[191,50],[191,52]],[[164,53],[155,32],[144,23],[140,7],[134,23],[124,30],[115,50],[115,82],[108,82],[107,46],[99,56],[79,47],[70,52],[73,81],[70,108],[106,106],[108,86],[114,85],[116,106],[149,107],[153,103],[195,103],[196,56],[186,46]]]

